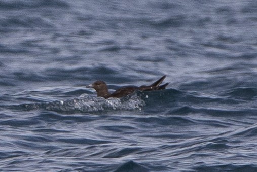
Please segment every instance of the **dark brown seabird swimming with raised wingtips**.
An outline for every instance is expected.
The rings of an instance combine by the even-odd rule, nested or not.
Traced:
[[[160,85],[165,78],[166,78],[166,75],[164,75],[163,77],[161,77],[159,80],[157,80],[156,82],[154,82],[151,85],[141,85],[139,87],[137,87],[137,86],[124,86],[124,87],[119,88],[118,90],[116,90],[113,93],[109,93],[108,87],[107,87],[106,83],[103,82],[103,81],[96,81],[93,84],[87,85],[86,87],[94,88],[97,92],[97,97],[121,98],[121,97],[125,97],[126,95],[132,94],[136,90],[140,90],[140,91],[163,90],[169,84],[169,83],[166,83],[166,84]]]

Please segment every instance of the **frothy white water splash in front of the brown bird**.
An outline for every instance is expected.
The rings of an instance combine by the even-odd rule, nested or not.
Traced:
[[[43,109],[55,112],[64,113],[91,113],[102,111],[116,111],[116,110],[141,110],[145,102],[138,94],[131,94],[124,98],[102,98],[95,97],[88,94],[82,94],[78,98],[67,100],[56,100],[52,102],[41,102],[33,104],[21,104],[19,108],[30,111],[36,109]],[[17,108],[17,106],[16,106]]]

